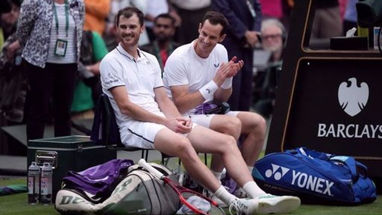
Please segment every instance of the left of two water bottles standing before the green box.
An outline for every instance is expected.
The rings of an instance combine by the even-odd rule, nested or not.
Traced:
[[[36,162],[28,168],[28,203],[36,204],[39,201],[40,195],[40,167]]]

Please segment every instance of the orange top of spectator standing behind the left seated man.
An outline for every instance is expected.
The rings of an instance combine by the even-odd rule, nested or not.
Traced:
[[[85,23],[84,30],[96,31],[99,35],[105,30],[105,19],[109,14],[110,0],[84,0]]]

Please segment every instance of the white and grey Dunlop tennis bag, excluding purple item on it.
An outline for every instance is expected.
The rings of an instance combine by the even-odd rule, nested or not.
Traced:
[[[150,163],[158,171],[177,181],[164,166]],[[130,166],[127,176],[103,202],[80,189],[64,188],[57,193],[55,208],[62,215],[171,215],[180,208],[177,194],[164,181]]]

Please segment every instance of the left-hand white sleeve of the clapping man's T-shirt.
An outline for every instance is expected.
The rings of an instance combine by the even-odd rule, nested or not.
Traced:
[[[168,84],[168,87],[186,85],[189,84],[186,72],[187,67],[183,60],[173,53],[167,59],[163,79]]]

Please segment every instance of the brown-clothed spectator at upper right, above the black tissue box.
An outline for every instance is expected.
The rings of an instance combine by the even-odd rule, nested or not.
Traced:
[[[311,38],[326,39],[342,35],[342,19],[338,0],[317,0]]]

